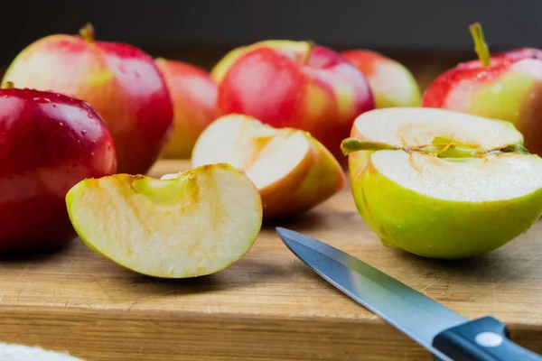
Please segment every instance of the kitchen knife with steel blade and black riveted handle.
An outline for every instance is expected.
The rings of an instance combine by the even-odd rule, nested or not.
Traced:
[[[327,282],[377,314],[442,361],[542,361],[509,339],[490,316],[466,319],[358,258],[283,227],[285,245]]]

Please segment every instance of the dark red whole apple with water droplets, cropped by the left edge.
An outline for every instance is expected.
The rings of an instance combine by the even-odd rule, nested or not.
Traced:
[[[107,125],[89,104],[33,89],[0,90],[0,255],[29,254],[75,238],[68,190],[117,171]]]

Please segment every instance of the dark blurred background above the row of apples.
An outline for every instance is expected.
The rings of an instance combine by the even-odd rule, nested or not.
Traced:
[[[419,73],[421,60],[446,68],[474,57],[468,25],[476,21],[491,51],[542,47],[542,0],[28,0],[4,10],[2,68],[30,42],[87,22],[98,40],[206,69],[239,44],[292,39],[371,48]]]

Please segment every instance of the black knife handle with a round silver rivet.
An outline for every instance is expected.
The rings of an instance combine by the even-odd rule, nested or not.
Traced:
[[[444,330],[433,347],[454,361],[542,361],[542,356],[512,342],[506,325],[492,317]]]

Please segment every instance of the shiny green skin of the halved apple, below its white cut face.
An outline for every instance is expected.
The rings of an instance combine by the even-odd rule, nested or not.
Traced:
[[[389,180],[370,159],[361,162],[362,171],[356,170],[355,161],[350,164],[360,216],[384,245],[414,255],[438,259],[483,255],[524,233],[542,215],[542,189],[509,200],[435,199]]]

